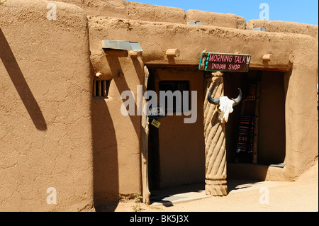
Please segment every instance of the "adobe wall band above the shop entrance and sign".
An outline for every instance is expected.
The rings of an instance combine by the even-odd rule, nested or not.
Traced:
[[[99,37],[100,40],[111,39],[139,42],[144,50],[142,54],[144,62],[167,60],[166,50],[180,47],[181,55],[175,58],[176,62],[199,62],[200,53],[203,50],[207,50],[213,52],[248,52],[253,55],[251,64],[259,67],[264,66],[263,55],[273,54],[272,60],[268,63],[269,67],[273,65],[287,67],[290,55],[293,55],[294,50],[298,48],[298,45],[293,40],[299,40],[300,42],[303,40],[304,42],[311,42],[312,40],[309,40],[306,35],[133,21],[100,16],[89,16],[89,27],[91,28],[90,36]],[[95,33],[92,33],[93,29],[96,30]],[[223,44],[220,44],[220,40],[223,40]],[[274,40],[278,41],[275,42]],[[236,43],[237,41],[240,43]],[[288,42],[289,45],[281,45],[277,49],[278,42]],[[98,43],[97,45],[100,44]],[[315,43],[315,45],[317,44]],[[101,47],[94,46],[93,48],[92,56],[99,55],[98,52],[101,54]],[[311,49],[310,52],[312,51],[315,52],[315,49]],[[311,53],[312,55],[313,53]],[[103,60],[103,57],[100,60]],[[98,62],[94,60],[92,63],[97,64]]]

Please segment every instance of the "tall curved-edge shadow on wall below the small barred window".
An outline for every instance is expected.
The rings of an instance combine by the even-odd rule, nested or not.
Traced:
[[[114,211],[118,205],[118,149],[110,111],[104,98],[91,101],[96,211]]]

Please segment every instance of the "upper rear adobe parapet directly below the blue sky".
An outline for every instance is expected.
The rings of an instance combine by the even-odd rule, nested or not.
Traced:
[[[186,24],[187,21],[201,21],[204,26],[246,28],[246,20],[231,13],[211,13],[167,6],[142,4],[124,0],[57,0],[84,9],[89,16],[107,16],[137,21],[169,22]]]

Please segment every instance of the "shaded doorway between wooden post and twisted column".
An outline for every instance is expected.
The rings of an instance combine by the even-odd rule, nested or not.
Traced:
[[[166,117],[157,118],[159,128],[150,120],[148,140],[149,188],[158,190],[205,181],[205,145],[203,134],[203,72],[196,68],[149,67],[147,90],[180,91],[182,99],[189,99],[189,110],[174,97],[173,107],[165,108]],[[188,91],[188,93],[183,93]],[[192,96],[191,91],[196,91]],[[188,96],[184,96],[184,95]],[[191,102],[196,101],[196,109]],[[172,115],[168,115],[172,113]],[[194,123],[184,118],[194,117]]]

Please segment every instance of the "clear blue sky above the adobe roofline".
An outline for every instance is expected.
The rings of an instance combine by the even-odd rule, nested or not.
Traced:
[[[259,19],[259,5],[269,6],[270,21],[291,21],[318,25],[318,0],[131,0],[145,4],[172,6],[185,11],[198,9],[215,13],[233,13],[246,21]]]

